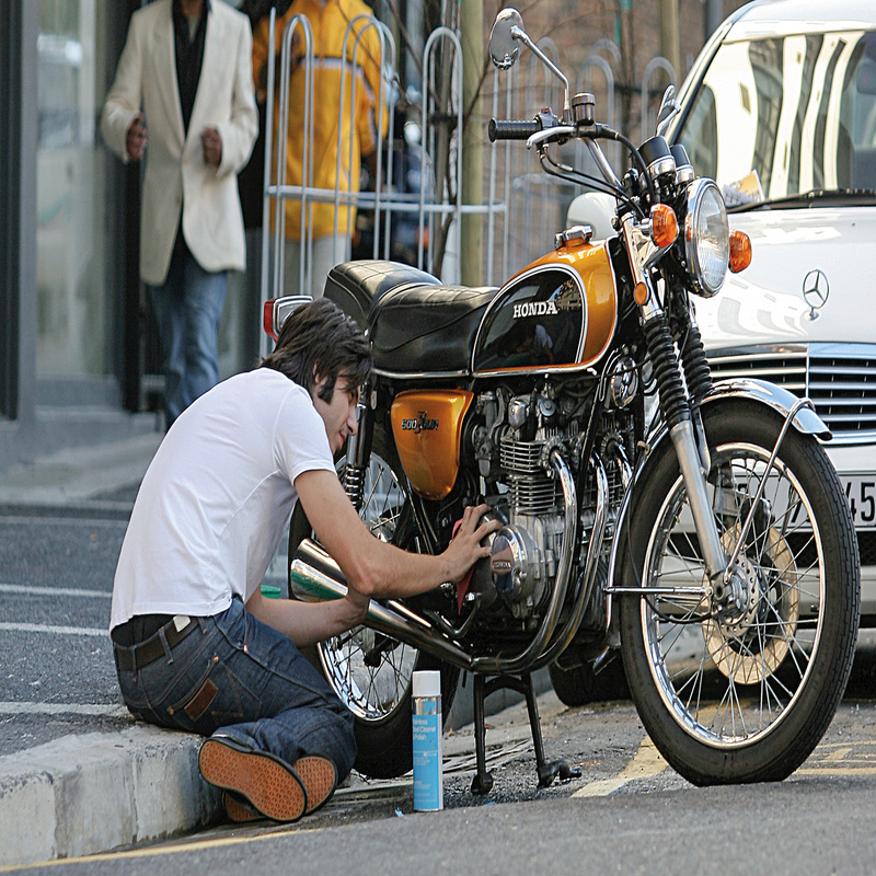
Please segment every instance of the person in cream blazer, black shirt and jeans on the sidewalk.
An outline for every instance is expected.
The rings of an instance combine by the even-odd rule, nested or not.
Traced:
[[[107,146],[126,163],[146,155],[140,277],[168,428],[219,379],[228,270],[245,268],[237,174],[258,130],[251,59],[250,21],[223,0],[154,0],[131,16],[103,107]]]

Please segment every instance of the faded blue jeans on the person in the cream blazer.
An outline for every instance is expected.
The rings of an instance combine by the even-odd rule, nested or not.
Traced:
[[[227,290],[228,272],[205,270],[187,246],[174,250],[164,285],[152,287],[168,428],[219,382],[216,338]]]

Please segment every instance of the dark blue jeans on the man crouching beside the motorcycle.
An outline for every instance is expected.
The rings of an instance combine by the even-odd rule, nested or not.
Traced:
[[[338,780],[356,759],[353,713],[292,641],[250,614],[240,599],[198,621],[171,650],[118,671],[128,708],[160,727],[217,730],[286,763],[332,760]]]

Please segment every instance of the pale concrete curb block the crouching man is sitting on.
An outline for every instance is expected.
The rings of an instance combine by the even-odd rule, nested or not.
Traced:
[[[200,737],[154,727],[68,736],[0,758],[0,866],[105,852],[217,820]]]

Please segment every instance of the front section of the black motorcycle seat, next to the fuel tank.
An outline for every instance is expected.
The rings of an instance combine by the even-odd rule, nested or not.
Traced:
[[[474,338],[495,287],[407,284],[371,309],[374,368],[385,373],[459,373],[471,368]]]

